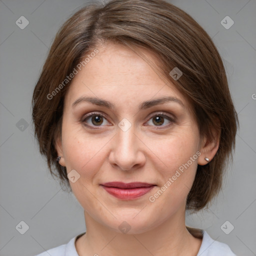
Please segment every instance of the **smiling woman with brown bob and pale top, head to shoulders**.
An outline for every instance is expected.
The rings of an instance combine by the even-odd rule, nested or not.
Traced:
[[[185,226],[219,191],[238,125],[219,53],[187,13],[163,0],[81,8],[32,103],[40,152],[86,224],[40,256],[235,255]]]

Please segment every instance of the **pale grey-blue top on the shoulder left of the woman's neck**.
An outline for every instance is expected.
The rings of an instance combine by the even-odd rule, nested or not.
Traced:
[[[37,254],[35,256],[78,256],[77,251],[75,249],[75,240],[82,234],[79,234],[71,238],[69,242],[66,244],[61,244],[57,247],[45,250],[44,252]]]

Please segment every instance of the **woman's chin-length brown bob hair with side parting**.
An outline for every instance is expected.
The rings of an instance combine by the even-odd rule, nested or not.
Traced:
[[[186,200],[187,210],[208,207],[221,188],[226,164],[233,158],[238,117],[211,38],[190,15],[164,0],[92,2],[60,27],[32,96],[34,135],[51,175],[71,191],[66,168],[56,161],[55,139],[61,137],[63,101],[71,73],[79,63],[84,66],[88,53],[93,56],[104,42],[125,45],[141,57],[139,49],[150,50],[159,59],[159,63],[151,63],[157,74],[174,84],[190,103],[200,136],[212,139],[214,130],[220,132],[219,148],[209,163],[197,165]],[[169,74],[174,67],[182,72],[177,80]]]

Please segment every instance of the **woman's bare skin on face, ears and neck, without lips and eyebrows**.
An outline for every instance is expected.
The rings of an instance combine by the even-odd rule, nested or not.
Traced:
[[[200,137],[184,96],[132,50],[109,42],[97,48],[99,53],[72,80],[64,100],[62,134],[56,140],[59,163],[67,172],[74,169],[80,175],[74,183],[69,181],[84,209],[86,224],[86,233],[75,242],[77,253],[195,256],[201,239],[186,229],[186,197],[197,164],[206,164],[204,157],[212,159],[219,137],[215,141]],[[141,52],[157,63],[150,51]],[[99,97],[115,107],[85,101],[72,107],[81,96]],[[184,107],[166,102],[138,110],[142,101],[161,96],[176,97]],[[99,124],[95,116],[82,121],[85,114],[94,111],[95,116],[101,113],[106,118],[101,117]],[[157,125],[154,115],[161,116],[159,112],[175,117],[174,121],[163,117]],[[131,124],[125,132],[118,126],[123,118]],[[149,196],[197,151],[200,156],[150,202]],[[122,200],[99,185],[109,181],[141,181],[156,186],[137,199]],[[124,220],[130,226],[127,233],[118,228]]]

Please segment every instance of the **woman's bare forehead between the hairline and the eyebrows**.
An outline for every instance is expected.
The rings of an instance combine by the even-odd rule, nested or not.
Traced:
[[[151,63],[156,67],[159,65],[159,60],[152,52],[139,49],[151,61],[147,63],[134,51],[120,44],[107,43],[97,49],[98,53],[90,57],[72,79],[65,98],[68,105],[81,96],[127,104],[172,96],[179,98],[186,106],[185,98],[175,86],[171,82],[166,83],[159,77],[159,72],[150,66]]]

